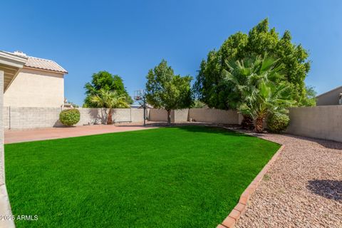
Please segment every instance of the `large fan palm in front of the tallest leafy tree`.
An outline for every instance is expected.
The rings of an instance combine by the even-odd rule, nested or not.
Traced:
[[[226,82],[235,96],[233,107],[255,121],[255,130],[261,133],[264,119],[272,113],[284,113],[293,104],[284,67],[278,60],[265,56],[226,62],[229,71],[223,71]]]

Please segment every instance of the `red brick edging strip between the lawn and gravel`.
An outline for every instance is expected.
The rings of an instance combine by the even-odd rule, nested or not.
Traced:
[[[264,166],[264,168],[259,172],[257,177],[254,178],[254,180],[251,182],[250,185],[248,185],[247,189],[244,190],[242,193],[239,202],[237,205],[232,209],[232,212],[229,213],[229,215],[223,220],[221,224],[218,224],[216,228],[233,228],[234,225],[237,223],[239,218],[244,214],[247,208],[247,204],[249,201],[249,198],[252,196],[254,191],[257,189],[259,183],[261,182],[262,178],[266,174],[266,172],[269,170],[271,165],[274,163],[274,161],[279,157],[281,151],[284,149],[284,145],[281,145],[279,150],[273,155],[271,160],[267,162],[267,164]]]

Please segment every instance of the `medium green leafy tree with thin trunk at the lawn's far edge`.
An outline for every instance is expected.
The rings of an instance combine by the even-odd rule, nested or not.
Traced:
[[[189,108],[192,105],[192,77],[175,75],[165,60],[150,69],[146,78],[147,103],[154,108],[167,110],[168,125],[171,123],[171,110]]]

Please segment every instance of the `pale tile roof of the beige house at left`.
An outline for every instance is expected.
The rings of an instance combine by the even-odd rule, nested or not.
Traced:
[[[27,61],[24,65],[26,67],[37,68],[37,69],[42,69],[42,70],[46,70],[46,71],[60,72],[60,73],[68,73],[68,71],[66,71],[66,69],[59,66],[58,63],[56,63],[55,61],[44,59],[44,58],[36,58],[36,57],[32,57],[32,56],[26,56],[26,54],[20,53],[20,52],[14,52],[11,54],[27,58]]]

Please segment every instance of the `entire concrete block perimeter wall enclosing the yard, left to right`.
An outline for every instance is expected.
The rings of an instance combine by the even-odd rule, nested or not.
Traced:
[[[1,85],[0,85],[1,87]],[[0,91],[1,92],[1,91]],[[1,100],[1,98],[0,98]],[[2,107],[1,129],[25,129],[25,128],[51,128],[60,127],[59,113],[61,108],[35,108],[35,107]],[[107,123],[108,110],[103,108],[78,108],[81,120],[77,125],[88,123]],[[342,142],[342,105],[328,105],[316,107],[290,108],[290,125],[287,133],[309,136],[326,140]],[[167,121],[167,112],[162,109],[150,109],[147,116],[151,121]],[[209,108],[190,108],[172,110],[173,123],[183,123],[187,120],[217,123],[240,124],[242,115],[233,110],[217,110]],[[143,109],[117,108],[113,109],[113,121],[118,122],[142,122]],[[1,135],[0,132],[0,150]]]

